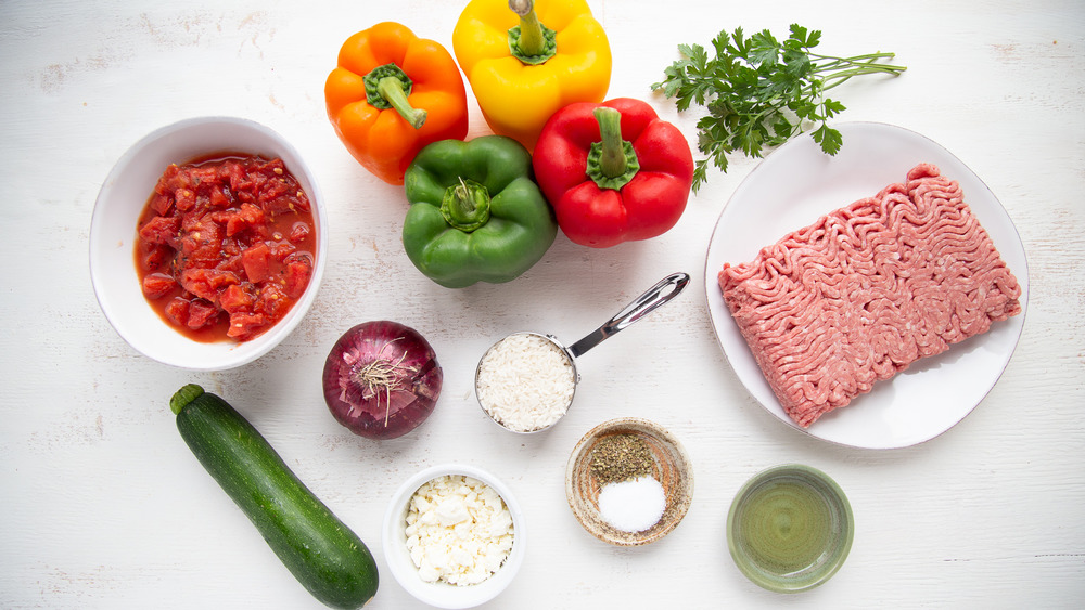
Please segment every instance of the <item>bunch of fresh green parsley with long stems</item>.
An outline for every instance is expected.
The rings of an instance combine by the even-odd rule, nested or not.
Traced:
[[[816,126],[812,137],[829,155],[840,151],[840,132],[828,121],[844,105],[825,96],[826,91],[854,76],[898,75],[906,68],[878,63],[893,53],[834,57],[812,52],[819,30],[791,25],[782,42],[767,29],[750,38],[742,28],[720,31],[712,40],[714,57],[700,44],[679,44],[682,59],[664,70],[665,79],[652,85],[674,98],[678,111],[694,102],[709,114],[697,122],[698,148],[709,155],[695,164],[693,191],[707,180],[711,163],[727,171],[727,154],[741,151],[761,157],[764,147],[778,146]]]

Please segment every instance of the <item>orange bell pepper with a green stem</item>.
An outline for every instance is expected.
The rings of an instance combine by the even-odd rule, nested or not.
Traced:
[[[388,184],[404,183],[426,144],[468,133],[467,90],[452,56],[393,22],[343,43],[324,102],[347,151]]]

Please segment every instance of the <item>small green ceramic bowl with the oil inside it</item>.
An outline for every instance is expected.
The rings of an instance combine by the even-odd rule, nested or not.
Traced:
[[[727,515],[739,570],[769,590],[796,593],[837,573],[852,548],[852,507],[828,475],[801,464],[755,475]]]

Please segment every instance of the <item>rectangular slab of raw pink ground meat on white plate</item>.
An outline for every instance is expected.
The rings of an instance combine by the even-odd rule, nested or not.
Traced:
[[[912,362],[1021,312],[960,186],[929,164],[724,264],[724,301],[788,415],[808,427]]]

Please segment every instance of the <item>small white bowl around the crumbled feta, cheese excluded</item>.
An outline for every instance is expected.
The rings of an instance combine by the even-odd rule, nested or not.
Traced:
[[[457,586],[441,581],[435,583],[423,581],[407,549],[405,530],[407,507],[411,496],[426,481],[445,475],[463,475],[486,483],[501,496],[512,516],[513,542],[509,557],[497,572],[476,585]],[[392,575],[407,589],[407,593],[419,601],[437,608],[473,608],[496,597],[515,577],[520,566],[524,562],[527,532],[524,529],[524,512],[505,483],[481,468],[463,464],[446,464],[422,470],[396,490],[384,514],[382,538],[384,559],[392,570]]]

